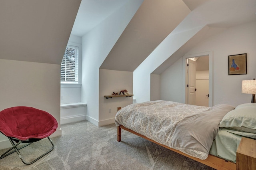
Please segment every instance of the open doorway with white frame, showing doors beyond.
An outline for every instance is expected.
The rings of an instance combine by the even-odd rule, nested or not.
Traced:
[[[205,52],[204,55],[200,54],[183,57],[185,65],[185,103],[211,107],[212,51]]]

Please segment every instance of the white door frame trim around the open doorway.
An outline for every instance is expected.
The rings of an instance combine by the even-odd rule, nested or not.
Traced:
[[[213,51],[206,51],[202,53],[195,53],[195,54],[188,54],[184,55],[182,57],[182,65],[183,65],[183,87],[184,87],[184,103],[187,104],[188,101],[188,88],[186,87],[187,85],[187,59],[188,58],[194,58],[194,57],[200,57],[208,55],[209,56],[209,107],[212,107],[212,99],[213,99],[213,93],[212,93],[212,84],[213,84],[213,79],[212,79],[212,73],[213,73]]]

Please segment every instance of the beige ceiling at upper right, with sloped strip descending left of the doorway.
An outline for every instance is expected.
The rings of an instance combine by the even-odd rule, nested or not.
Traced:
[[[159,65],[159,67],[152,72],[153,74],[161,74],[190,49],[207,38],[217,35],[227,28],[256,21],[256,0],[183,1],[192,12],[188,14],[171,34],[182,34],[197,26],[204,26],[204,28],[182,45],[180,49],[175,51],[175,53],[170,53],[170,57]]]

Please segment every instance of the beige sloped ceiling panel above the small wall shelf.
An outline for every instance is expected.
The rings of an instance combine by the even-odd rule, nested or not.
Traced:
[[[100,68],[134,71],[189,13],[182,0],[144,0]]]

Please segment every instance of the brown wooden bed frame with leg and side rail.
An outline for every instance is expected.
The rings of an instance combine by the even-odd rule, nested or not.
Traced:
[[[121,108],[118,107],[118,110],[120,110],[120,109],[121,109]],[[172,151],[174,151],[174,152],[177,152],[177,153],[179,153],[179,154],[182,154],[182,155],[184,155],[184,156],[186,156],[186,157],[188,157],[188,158],[191,158],[191,159],[193,159],[193,160],[196,160],[196,161],[198,161],[198,162],[200,162],[200,163],[202,163],[202,164],[205,164],[205,165],[210,166],[210,167],[212,167],[212,168],[215,168],[215,169],[217,169],[217,170],[236,170],[236,164],[233,163],[233,162],[224,160],[224,159],[222,159],[222,158],[218,158],[218,157],[213,156],[213,155],[211,155],[211,154],[208,155],[208,158],[207,158],[207,159],[201,160],[201,159],[199,159],[199,158],[196,158],[196,157],[190,156],[190,155],[188,155],[188,154],[185,154],[185,153],[183,153],[183,152],[180,152],[179,150],[176,150],[176,149],[170,148],[170,147],[168,147],[168,146],[165,146],[165,145],[163,145],[163,144],[160,144],[160,143],[158,143],[158,142],[156,142],[156,141],[154,141],[154,140],[152,140],[152,139],[150,139],[150,138],[147,138],[146,136],[144,136],[144,135],[142,135],[142,134],[139,134],[139,133],[137,133],[137,132],[134,132],[133,130],[130,130],[130,129],[128,129],[128,128],[122,126],[122,125],[120,125],[120,126],[117,127],[117,141],[118,141],[118,142],[121,141],[121,129],[127,130],[128,132],[131,132],[131,133],[133,133],[133,134],[136,134],[136,135],[138,135],[138,136],[140,136],[140,137],[142,137],[142,138],[145,138],[145,139],[147,139],[147,140],[149,140],[149,141],[151,141],[151,142],[154,142],[154,143],[156,143],[156,144],[158,144],[158,145],[160,145],[160,146],[163,146],[163,147],[165,147],[165,148],[167,148],[167,149],[170,149],[170,150],[172,150]]]

